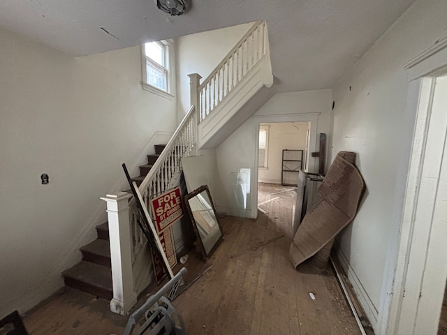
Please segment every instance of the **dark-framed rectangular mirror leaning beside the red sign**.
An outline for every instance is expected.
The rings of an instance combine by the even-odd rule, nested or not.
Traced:
[[[184,198],[198,237],[196,246],[204,258],[209,258],[221,241],[223,232],[217,220],[208,186],[200,186]]]

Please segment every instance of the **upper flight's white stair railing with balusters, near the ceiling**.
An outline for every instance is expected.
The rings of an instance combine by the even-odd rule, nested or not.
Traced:
[[[198,87],[200,123],[268,52],[265,21],[256,22]]]

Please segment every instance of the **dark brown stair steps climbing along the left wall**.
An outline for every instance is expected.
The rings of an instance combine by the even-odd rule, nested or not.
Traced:
[[[147,164],[140,165],[140,176],[133,178],[139,186],[159,158],[165,144],[154,145],[155,154],[147,155]],[[108,222],[96,226],[97,239],[82,246],[82,260],[62,272],[65,285],[104,299],[113,298],[112,269]]]

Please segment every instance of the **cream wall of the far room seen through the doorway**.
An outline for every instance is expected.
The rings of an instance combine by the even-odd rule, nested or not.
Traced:
[[[269,126],[268,167],[258,169],[258,181],[261,183],[281,184],[282,151],[284,149],[303,150],[302,168],[304,168],[304,150],[309,123],[288,122],[263,125]],[[293,174],[296,174],[296,176]],[[289,181],[290,179],[298,180],[298,172],[286,172],[284,177]]]

